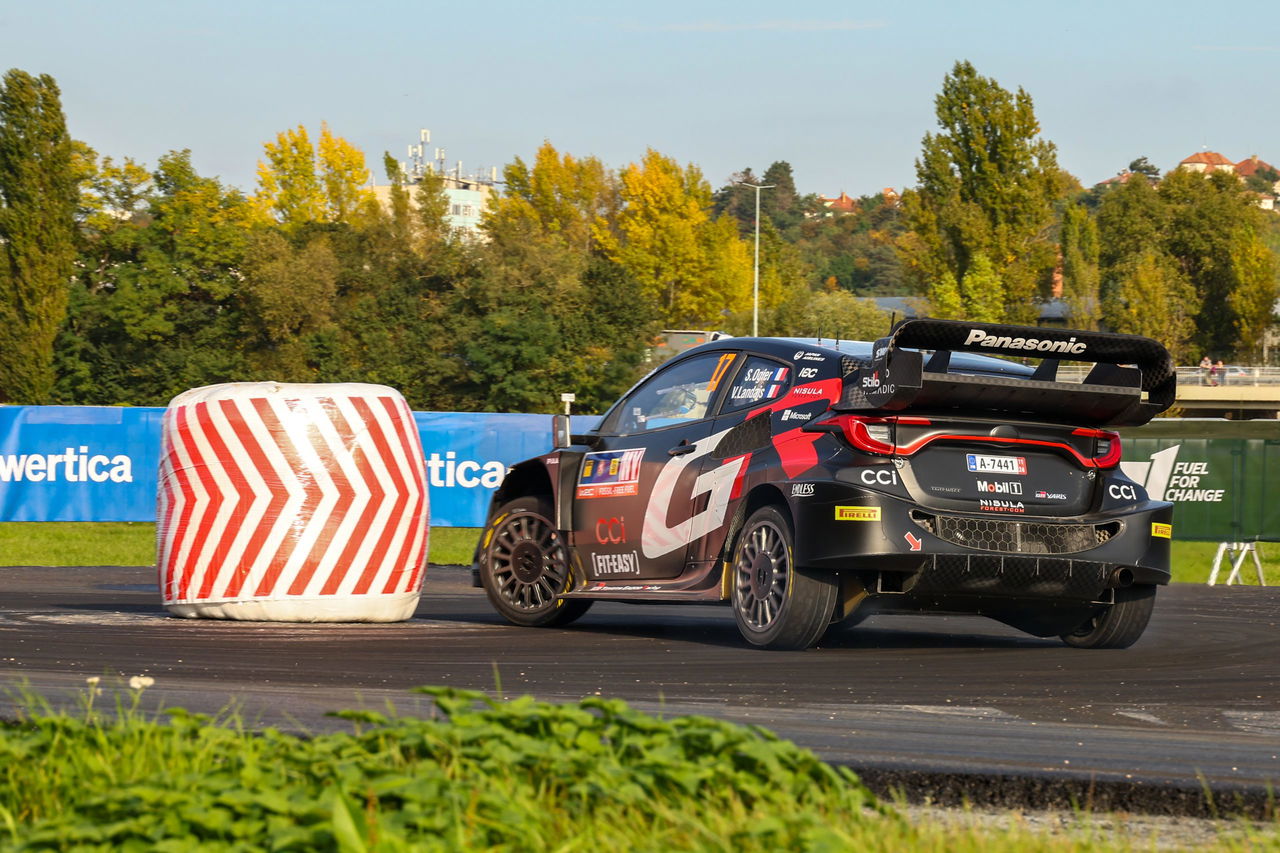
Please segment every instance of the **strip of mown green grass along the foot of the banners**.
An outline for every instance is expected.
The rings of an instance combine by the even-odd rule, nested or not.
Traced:
[[[431,528],[430,561],[470,565],[480,530]],[[1174,543],[1174,581],[1202,584],[1213,565],[1213,542]],[[1268,587],[1280,587],[1280,543],[1258,543]],[[9,521],[0,524],[0,566],[150,566],[155,565],[155,524]],[[1219,583],[1226,580],[1224,567]],[[1247,584],[1257,583],[1253,561],[1242,570]]]

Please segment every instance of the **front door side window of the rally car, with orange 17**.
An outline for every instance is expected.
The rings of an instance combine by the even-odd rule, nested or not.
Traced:
[[[732,352],[709,352],[650,377],[618,406],[613,429],[646,433],[707,418],[733,357]]]

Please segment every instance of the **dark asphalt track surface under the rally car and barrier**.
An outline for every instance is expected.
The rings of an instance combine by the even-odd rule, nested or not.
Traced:
[[[957,616],[877,616],[808,652],[740,640],[727,608],[602,605],[566,629],[503,622],[433,566],[415,619],[298,625],[170,617],[146,567],[0,567],[0,717],[28,684],[146,674],[146,704],[325,729],[326,711],[426,711],[415,685],[759,724],[915,798],[1208,813],[1280,789],[1280,589],[1162,589],[1143,639],[1082,651]]]

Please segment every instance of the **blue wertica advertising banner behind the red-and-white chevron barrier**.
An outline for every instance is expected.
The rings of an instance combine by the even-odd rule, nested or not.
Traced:
[[[0,406],[0,521],[155,521],[164,409]],[[477,528],[507,467],[552,447],[550,415],[413,412],[431,524]],[[573,430],[599,418],[575,415]]]

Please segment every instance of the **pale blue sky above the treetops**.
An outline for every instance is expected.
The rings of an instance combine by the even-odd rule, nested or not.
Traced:
[[[376,167],[419,128],[463,169],[541,141],[654,147],[713,187],[787,160],[801,192],[911,186],[956,60],[1025,88],[1085,184],[1202,149],[1280,164],[1280,6],[1204,3],[3,0],[0,70],[52,74],[72,133],[247,191],[262,142],[330,128]]]

